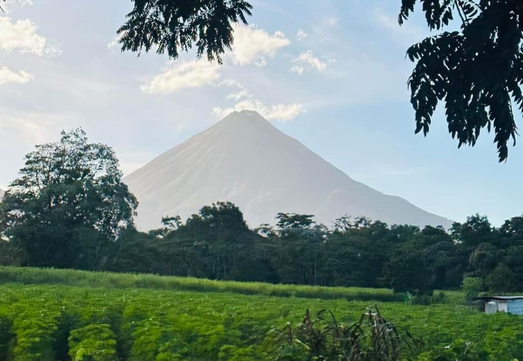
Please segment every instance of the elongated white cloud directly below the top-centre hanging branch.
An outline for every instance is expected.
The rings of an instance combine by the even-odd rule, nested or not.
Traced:
[[[183,88],[195,88],[212,84],[220,78],[220,65],[198,59],[188,62],[169,61],[163,72],[142,84],[140,89],[146,94],[168,94]]]

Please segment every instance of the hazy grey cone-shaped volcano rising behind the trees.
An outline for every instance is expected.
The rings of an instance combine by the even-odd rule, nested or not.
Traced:
[[[355,181],[255,111],[233,112],[124,182],[140,203],[141,230],[157,228],[165,215],[185,219],[218,200],[234,202],[251,226],[274,223],[278,212],[309,213],[327,224],[348,214],[389,224],[451,225]]]

